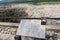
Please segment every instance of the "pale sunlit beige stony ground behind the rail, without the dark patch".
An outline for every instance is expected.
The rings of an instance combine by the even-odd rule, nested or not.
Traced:
[[[2,7],[2,8],[1,8]],[[28,14],[27,17],[51,17],[60,18],[60,4],[58,5],[29,5],[29,4],[8,4],[0,5],[1,9],[19,9],[24,8],[25,12]],[[1,10],[0,9],[0,10]],[[24,14],[23,14],[24,15]]]

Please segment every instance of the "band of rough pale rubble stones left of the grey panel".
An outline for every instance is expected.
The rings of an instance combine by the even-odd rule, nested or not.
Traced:
[[[0,33],[1,34],[15,35],[16,31],[17,31],[17,28],[0,26]]]

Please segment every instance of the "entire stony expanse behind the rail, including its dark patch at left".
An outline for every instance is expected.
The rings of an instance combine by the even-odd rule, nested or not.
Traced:
[[[58,5],[31,5],[6,4],[0,5],[0,17],[28,17],[28,18],[60,18],[60,4]],[[20,19],[1,19],[1,21],[20,21]]]

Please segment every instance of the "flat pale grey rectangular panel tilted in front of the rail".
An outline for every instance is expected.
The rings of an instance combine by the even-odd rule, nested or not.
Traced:
[[[16,35],[45,38],[45,25],[41,25],[41,20],[22,19]]]

